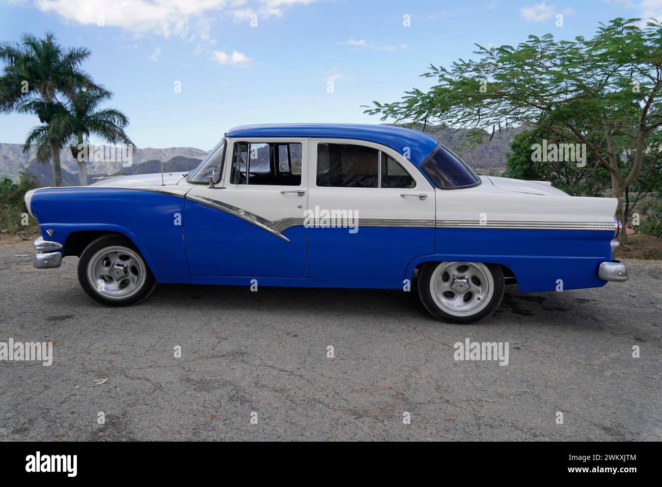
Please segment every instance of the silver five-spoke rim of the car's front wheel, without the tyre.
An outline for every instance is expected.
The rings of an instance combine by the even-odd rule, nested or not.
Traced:
[[[87,264],[90,286],[108,299],[136,294],[147,279],[147,267],[138,252],[123,246],[102,248]]]

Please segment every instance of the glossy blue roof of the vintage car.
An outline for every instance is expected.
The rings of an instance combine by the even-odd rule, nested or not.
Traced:
[[[439,141],[431,135],[394,127],[359,123],[275,123],[242,125],[225,134],[227,137],[318,137],[367,140],[390,147],[401,154],[409,148],[409,160],[420,166]]]

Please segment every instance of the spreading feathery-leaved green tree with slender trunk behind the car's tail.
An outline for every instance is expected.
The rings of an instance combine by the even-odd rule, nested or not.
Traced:
[[[529,36],[516,47],[477,46],[477,60],[460,59],[449,69],[430,66],[422,75],[435,80],[428,91],[407,91],[395,103],[375,101],[366,113],[491,133],[529,125],[586,144],[608,170],[618,215],[626,223],[622,198],[662,125],[662,25],[640,28],[639,21],[600,24],[592,38],[557,41],[546,34]],[[634,149],[632,166],[622,174],[626,146]]]

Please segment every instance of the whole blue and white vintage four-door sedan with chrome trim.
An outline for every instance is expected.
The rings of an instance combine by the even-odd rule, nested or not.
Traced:
[[[628,279],[612,260],[617,201],[549,182],[477,176],[424,133],[385,125],[248,125],[189,174],[40,188],[36,268],[79,256],[106,305],[157,283],[418,288],[443,321],[492,313],[522,292]],[[416,276],[414,288],[412,280]]]

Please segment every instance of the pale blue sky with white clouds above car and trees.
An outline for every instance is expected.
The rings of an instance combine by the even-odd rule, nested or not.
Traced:
[[[591,36],[616,17],[662,19],[662,0],[0,0],[0,41],[50,31],[91,50],[83,69],[136,146],[209,150],[237,125],[380,123],[361,105],[427,89],[427,66],[476,43]],[[37,123],[0,113],[0,142]]]

